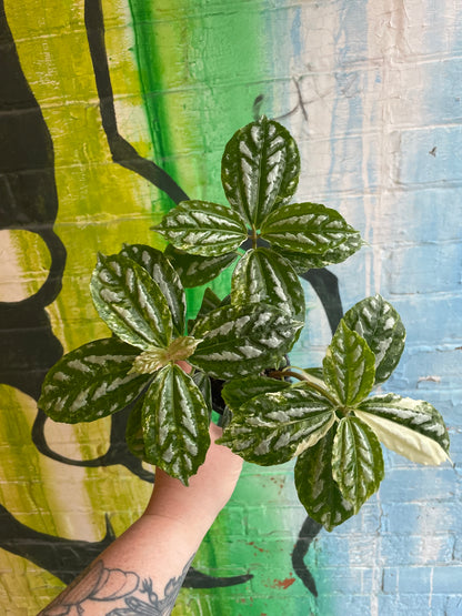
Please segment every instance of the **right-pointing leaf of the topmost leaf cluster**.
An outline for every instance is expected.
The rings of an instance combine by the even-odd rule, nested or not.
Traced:
[[[290,203],[271,212],[261,238],[284,251],[324,254],[356,234],[337,210],[318,203]]]

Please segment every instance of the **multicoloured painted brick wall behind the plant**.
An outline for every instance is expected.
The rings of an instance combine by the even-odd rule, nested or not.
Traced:
[[[149,179],[112,160],[84,8],[83,0],[6,0],[3,14],[0,4],[2,59],[12,41],[18,59],[0,87],[0,336],[8,351],[0,380],[0,612],[11,616],[36,614],[101,548],[106,516],[116,535],[133,522],[152,481],[150,469],[121,463],[117,452],[89,465],[112,451],[110,431],[120,426],[47,422],[40,432],[34,403],[59,344],[68,351],[106,335],[87,292],[96,250],[152,243],[149,226],[170,206]],[[253,578],[184,588],[175,614],[462,614],[462,6],[118,0],[103,1],[101,14],[119,132],[191,196],[222,200],[223,143],[252,119],[258,97],[260,111],[291,130],[302,154],[297,199],[338,208],[368,242],[331,269],[344,309],[375,292],[395,305],[408,346],[386,388],[432,402],[452,440],[453,466],[422,468],[386,453],[379,494],[333,533],[310,535],[292,464],[245,465],[193,566],[211,578]],[[18,80],[26,89],[13,95]],[[30,133],[18,137],[24,109],[42,121],[41,144]],[[22,166],[11,170],[14,143]],[[53,154],[46,166],[57,211],[29,220],[43,184],[14,205],[6,176],[37,178],[40,149]],[[43,234],[51,229],[66,266],[59,243]],[[43,287],[50,251],[62,291],[30,313],[24,302]],[[309,325],[292,354],[302,365],[318,364],[330,340],[325,314],[307,291]]]

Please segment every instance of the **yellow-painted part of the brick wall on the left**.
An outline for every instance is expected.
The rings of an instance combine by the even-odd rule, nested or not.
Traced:
[[[119,130],[145,155],[151,145],[144,139],[148,131],[138,94],[138,73],[129,51],[132,41],[127,16],[120,2],[103,4]],[[149,228],[153,223],[151,209],[158,191],[111,160],[84,31],[83,1],[7,0],[6,13],[21,67],[42,109],[54,147],[59,199],[54,231],[68,257],[62,292],[48,312],[53,333],[69,351],[107,335],[88,290],[97,251],[117,252],[122,242],[152,244]],[[36,254],[40,267],[48,267],[40,242],[36,242],[33,251],[24,238],[17,244],[14,254],[19,256],[11,267],[22,271],[19,272],[21,280],[33,265]],[[36,272],[33,279],[38,284]],[[21,293],[27,292],[26,285]],[[4,294],[4,300],[12,300],[8,289]],[[112,512],[118,512],[112,521],[117,534],[123,532],[141,512],[150,486],[120,466],[82,468],[46,458],[30,441],[30,425],[36,415],[33,401],[3,390],[2,405],[9,414],[3,406],[0,466],[9,476],[1,484],[1,503],[10,512],[17,512],[18,519],[40,532],[99,541],[104,535],[103,514],[111,516]],[[21,417],[19,425],[18,417]],[[109,427],[109,420],[67,428],[50,422],[47,436],[62,455],[83,460],[106,452]],[[48,573],[38,572],[31,563],[4,551],[0,552],[0,605],[17,602],[16,615],[26,606],[31,610],[29,614],[36,613],[34,608],[42,607],[44,598],[51,599],[58,586],[62,587]]]

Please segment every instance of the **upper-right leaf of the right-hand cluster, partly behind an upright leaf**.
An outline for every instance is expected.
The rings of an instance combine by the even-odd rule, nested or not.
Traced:
[[[386,381],[404,351],[405,330],[398,312],[381,295],[375,295],[355,304],[343,320],[374,353],[375,383]]]

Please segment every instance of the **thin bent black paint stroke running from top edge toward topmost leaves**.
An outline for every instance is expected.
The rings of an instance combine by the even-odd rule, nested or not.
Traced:
[[[145,178],[168,194],[174,203],[189,200],[187,193],[163,169],[154,162],[140,156],[137,150],[119,133],[108,54],[106,51],[104,18],[101,0],[86,0],[84,20],[94,78],[97,80],[102,127],[108,138],[112,160]]]

